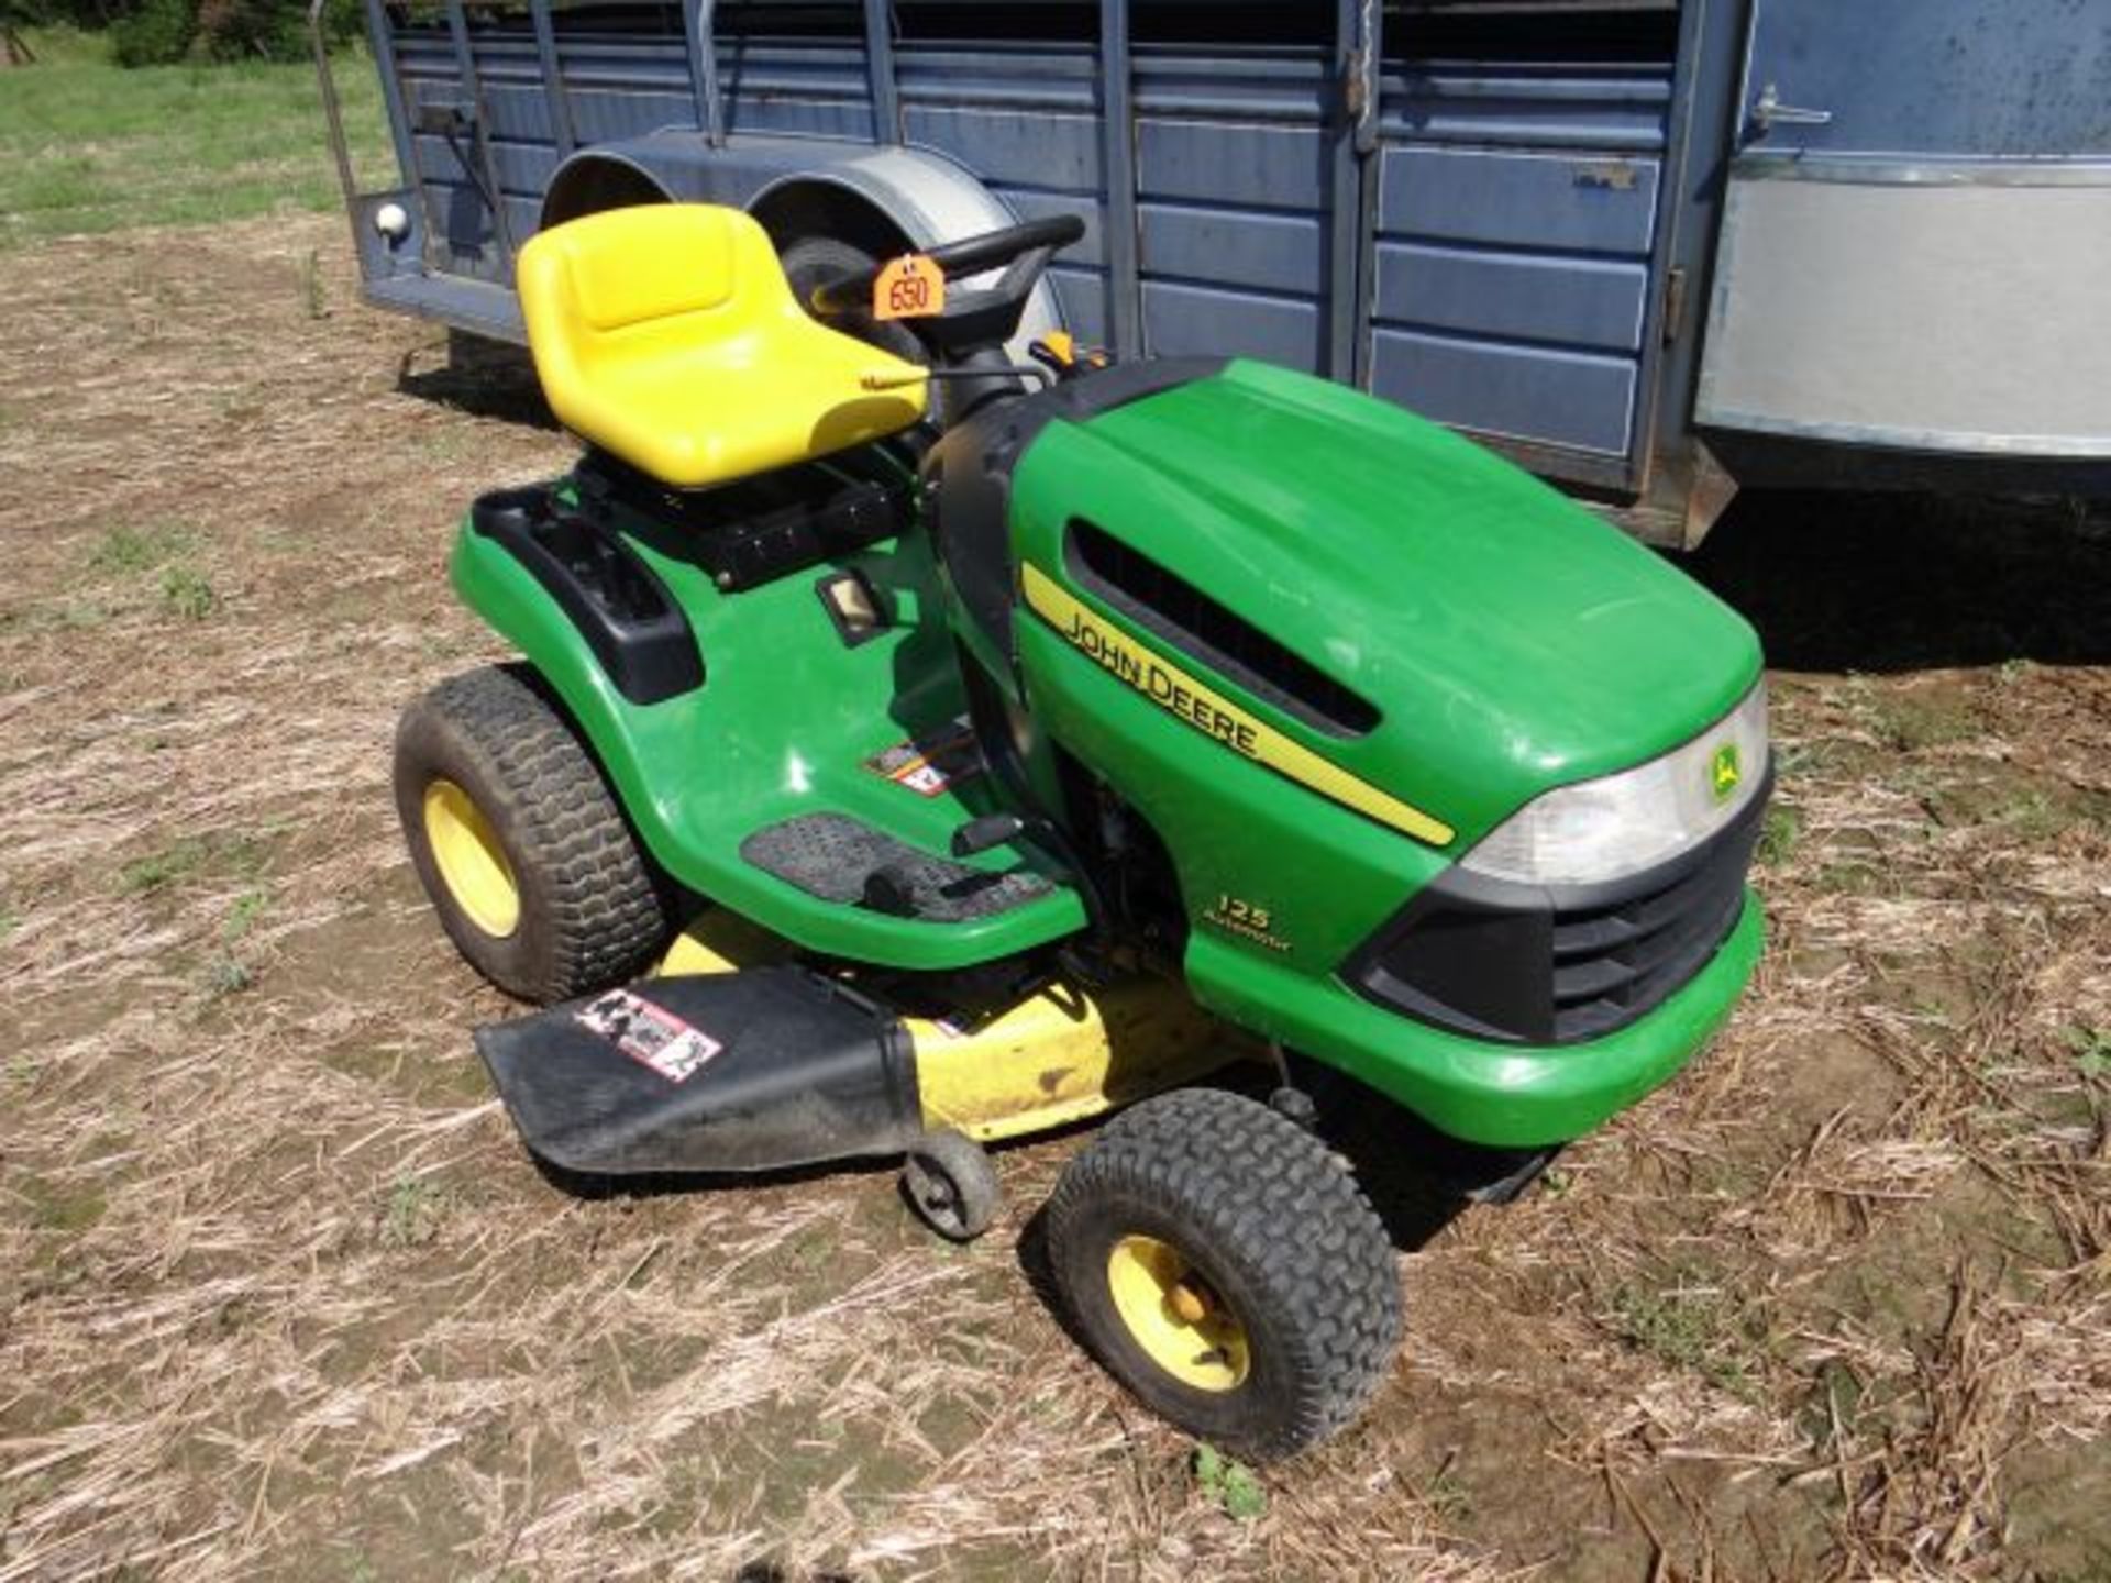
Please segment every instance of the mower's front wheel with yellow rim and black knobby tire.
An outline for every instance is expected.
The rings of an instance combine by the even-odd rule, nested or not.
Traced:
[[[1334,1433],[1400,1342],[1385,1226],[1296,1123],[1216,1089],[1146,1100],[1047,1209],[1085,1347],[1153,1412],[1254,1461]]]

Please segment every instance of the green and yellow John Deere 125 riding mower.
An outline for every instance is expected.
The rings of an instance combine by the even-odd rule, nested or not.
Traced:
[[[454,587],[521,661],[410,707],[397,802],[456,946],[549,1007],[477,1032],[538,1157],[904,1159],[971,1237],[984,1144],[1129,1106],[1047,1205],[1058,1296],[1150,1408],[1279,1456],[1400,1332],[1313,1095],[1514,1184],[1729,1013],[1761,654],[1383,401],[1013,361],[1079,234],[798,293],[730,209],[536,236],[587,450],[462,523]],[[1199,1083],[1229,1064],[1258,1081]]]

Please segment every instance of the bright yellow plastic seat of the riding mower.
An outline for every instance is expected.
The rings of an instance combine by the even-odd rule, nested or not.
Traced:
[[[800,312],[739,209],[659,203],[551,226],[515,285],[557,420],[676,488],[828,456],[925,412],[912,363]],[[868,374],[914,382],[868,390]]]

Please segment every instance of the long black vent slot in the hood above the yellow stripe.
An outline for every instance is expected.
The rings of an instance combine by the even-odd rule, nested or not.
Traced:
[[[1364,737],[1378,709],[1235,616],[1186,578],[1089,521],[1070,521],[1070,572],[1115,610],[1330,737]]]

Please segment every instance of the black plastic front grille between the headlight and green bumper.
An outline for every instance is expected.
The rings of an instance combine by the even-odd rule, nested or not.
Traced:
[[[1767,783],[1714,838],[1613,884],[1533,886],[1454,867],[1343,977],[1421,1022],[1528,1045],[1625,1028],[1687,984],[1737,924]]]

